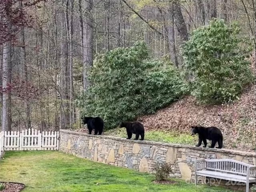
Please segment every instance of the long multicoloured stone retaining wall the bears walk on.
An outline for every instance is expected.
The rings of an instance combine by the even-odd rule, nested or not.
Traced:
[[[256,154],[229,149],[200,148],[181,144],[127,140],[112,136],[60,130],[59,150],[81,158],[153,172],[156,162],[172,164],[176,178],[194,180],[194,160],[229,158],[256,165]]]

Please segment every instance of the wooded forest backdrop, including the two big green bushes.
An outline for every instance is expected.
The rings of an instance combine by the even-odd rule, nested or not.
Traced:
[[[255,86],[254,0],[1,0],[0,28],[2,130],[108,130]]]

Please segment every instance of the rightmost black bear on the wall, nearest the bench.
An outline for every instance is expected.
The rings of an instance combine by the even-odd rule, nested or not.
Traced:
[[[218,142],[218,147],[216,148],[222,148],[223,136],[219,128],[202,126],[191,126],[191,128],[192,135],[198,133],[198,144],[196,145],[196,147],[199,147],[202,144],[202,141],[204,142],[203,147],[206,147],[206,139],[208,139],[212,141],[210,148],[214,148],[216,142]]]

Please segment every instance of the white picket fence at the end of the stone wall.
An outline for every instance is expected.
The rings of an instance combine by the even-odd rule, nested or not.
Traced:
[[[2,150],[58,150],[59,132],[36,129],[22,132],[0,132],[0,151]]]

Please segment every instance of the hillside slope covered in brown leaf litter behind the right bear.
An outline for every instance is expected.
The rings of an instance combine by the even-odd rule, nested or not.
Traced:
[[[255,55],[251,58],[255,72]],[[138,118],[146,130],[190,132],[191,125],[216,126],[224,135],[224,148],[255,151],[256,85],[229,105],[204,106],[187,96],[156,114]]]

